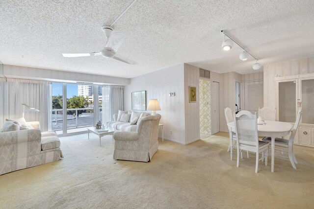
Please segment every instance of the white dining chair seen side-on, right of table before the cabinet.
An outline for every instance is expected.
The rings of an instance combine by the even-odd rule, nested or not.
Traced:
[[[288,153],[288,158],[294,169],[296,169],[295,164],[298,164],[298,162],[296,161],[294,151],[293,151],[293,141],[294,141],[296,130],[298,129],[298,126],[300,123],[301,115],[302,115],[302,110],[300,109],[298,112],[298,116],[296,117],[289,139],[275,138],[275,149],[280,150],[281,153],[283,152]],[[264,139],[262,139],[262,141],[271,143],[271,138],[265,137]],[[276,156],[287,158],[286,156],[282,156],[282,155],[276,155]]]

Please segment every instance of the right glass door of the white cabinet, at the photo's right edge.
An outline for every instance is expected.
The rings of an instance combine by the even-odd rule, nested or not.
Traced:
[[[301,81],[302,123],[314,124],[314,79]]]

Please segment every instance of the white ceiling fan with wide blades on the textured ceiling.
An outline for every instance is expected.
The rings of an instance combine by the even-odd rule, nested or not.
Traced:
[[[105,32],[105,36],[107,37],[108,41],[105,45],[105,48],[100,52],[72,53],[72,54],[62,53],[62,55],[64,57],[86,57],[102,55],[105,58],[113,58],[115,60],[119,60],[121,62],[125,62],[131,65],[138,64],[137,62],[116,53],[119,47],[123,44],[125,38],[127,37],[125,34],[121,32],[113,32],[113,28],[108,25],[103,25],[103,31]]]

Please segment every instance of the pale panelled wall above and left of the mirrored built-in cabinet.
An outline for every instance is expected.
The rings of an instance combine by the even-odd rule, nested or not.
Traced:
[[[291,60],[264,66],[264,106],[276,108],[276,82],[278,76],[298,75],[314,72],[314,57]]]

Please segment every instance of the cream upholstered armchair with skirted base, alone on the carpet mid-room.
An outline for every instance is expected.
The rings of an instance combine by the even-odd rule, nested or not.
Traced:
[[[161,116],[139,118],[136,132],[115,132],[113,159],[149,162],[158,150],[158,124]]]

